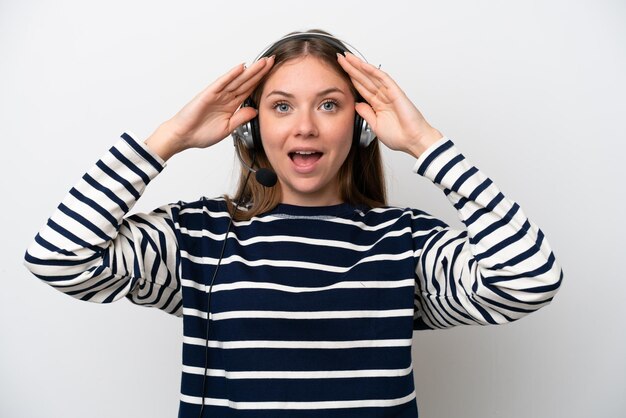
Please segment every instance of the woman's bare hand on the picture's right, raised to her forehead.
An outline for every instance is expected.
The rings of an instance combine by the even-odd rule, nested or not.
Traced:
[[[367,103],[356,111],[387,147],[419,157],[443,135],[430,126],[419,110],[387,73],[346,52],[339,64]]]

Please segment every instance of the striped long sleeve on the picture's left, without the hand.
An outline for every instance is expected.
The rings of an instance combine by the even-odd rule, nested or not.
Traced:
[[[125,217],[165,161],[128,133],[69,191],[31,242],[24,265],[74,298],[182,315],[175,204]]]

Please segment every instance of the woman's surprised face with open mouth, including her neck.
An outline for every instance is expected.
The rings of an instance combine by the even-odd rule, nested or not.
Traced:
[[[341,203],[337,173],[352,144],[354,112],[350,86],[319,58],[287,61],[266,80],[259,125],[282,203]]]

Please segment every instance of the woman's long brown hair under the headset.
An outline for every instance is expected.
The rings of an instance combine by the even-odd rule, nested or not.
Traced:
[[[310,30],[306,33],[332,36],[328,32],[321,30]],[[341,44],[339,41],[336,42]],[[343,44],[341,45],[343,46]],[[343,50],[347,51],[348,49],[343,48]],[[274,65],[252,92],[251,98],[253,102],[259,103],[265,82],[282,64],[304,56],[316,57],[330,65],[337,74],[346,80],[355,100],[363,101],[354,88],[350,77],[337,62],[337,52],[343,51],[337,51],[337,48],[325,41],[323,37],[295,37],[280,42],[277,47],[271,48],[272,55],[275,55]],[[237,141],[235,146],[238,147],[239,153],[246,164],[252,165],[254,155],[254,164],[257,167],[272,168],[262,147],[261,149],[250,150],[243,146],[241,141]],[[234,215],[235,220],[249,220],[256,215],[274,209],[281,201],[280,182],[274,187],[262,186],[254,179],[246,182],[249,173],[247,168],[241,167],[236,196],[241,196],[238,206],[245,207],[247,210],[236,211]],[[350,152],[337,175],[341,199],[344,202],[368,208],[387,204],[385,179],[378,141],[373,141],[367,148],[363,148],[353,141]],[[224,197],[229,212],[232,213],[233,201],[229,196]]]

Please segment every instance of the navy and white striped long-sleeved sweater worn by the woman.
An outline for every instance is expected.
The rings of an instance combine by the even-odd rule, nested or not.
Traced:
[[[127,215],[166,163],[124,133],[36,235],[25,265],[75,298],[183,318],[179,416],[203,398],[223,199]],[[449,138],[416,161],[466,230],[417,209],[281,204],[233,223],[211,292],[204,417],[417,417],[414,330],[502,324],[563,276],[541,230]]]

